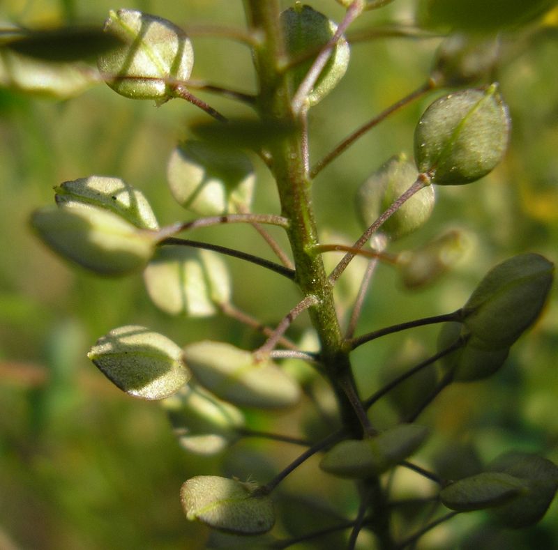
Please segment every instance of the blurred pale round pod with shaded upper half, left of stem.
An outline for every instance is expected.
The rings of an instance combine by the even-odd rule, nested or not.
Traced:
[[[231,147],[190,140],[172,151],[167,179],[173,197],[202,216],[248,208],[255,174],[248,155]]]

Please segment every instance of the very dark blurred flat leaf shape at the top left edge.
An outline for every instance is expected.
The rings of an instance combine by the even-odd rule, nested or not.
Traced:
[[[93,26],[66,26],[61,29],[24,31],[5,47],[40,61],[68,63],[91,59],[122,44],[122,40]]]

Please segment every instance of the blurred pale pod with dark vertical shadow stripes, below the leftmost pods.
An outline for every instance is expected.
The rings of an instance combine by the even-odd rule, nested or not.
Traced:
[[[219,254],[183,246],[159,248],[144,270],[144,282],[149,298],[169,315],[214,315],[231,293]]]

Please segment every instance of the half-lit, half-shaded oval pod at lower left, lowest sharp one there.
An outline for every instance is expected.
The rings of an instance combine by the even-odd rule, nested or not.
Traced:
[[[186,517],[228,533],[258,535],[275,523],[269,495],[259,494],[250,483],[197,475],[186,481],[180,498]]]

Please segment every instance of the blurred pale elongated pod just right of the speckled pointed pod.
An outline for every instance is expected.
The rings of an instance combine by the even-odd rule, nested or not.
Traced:
[[[197,342],[183,350],[197,381],[225,401],[255,408],[284,408],[299,402],[300,388],[271,360],[224,342]]]

